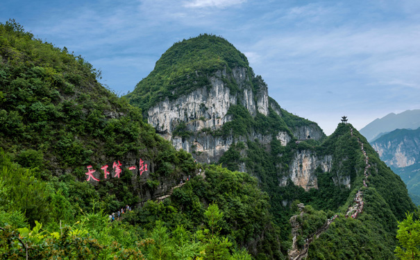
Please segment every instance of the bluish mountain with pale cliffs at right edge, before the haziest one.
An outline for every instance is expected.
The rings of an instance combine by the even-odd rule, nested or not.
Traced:
[[[392,171],[401,176],[408,192],[420,196],[420,128],[394,130],[371,145]]]

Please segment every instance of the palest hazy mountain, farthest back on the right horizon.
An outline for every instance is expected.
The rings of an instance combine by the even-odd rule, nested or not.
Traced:
[[[417,129],[420,127],[420,110],[406,110],[400,114],[390,113],[382,119],[375,119],[360,130],[360,133],[373,141],[384,133],[398,129]]]

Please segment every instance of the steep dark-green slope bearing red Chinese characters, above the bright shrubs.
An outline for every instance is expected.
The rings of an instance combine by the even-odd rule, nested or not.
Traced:
[[[194,170],[192,157],[99,84],[99,71],[83,58],[33,39],[17,24],[1,26],[0,33],[0,144],[16,162],[38,167],[44,178],[90,179],[103,195],[112,183],[117,198],[131,205]]]

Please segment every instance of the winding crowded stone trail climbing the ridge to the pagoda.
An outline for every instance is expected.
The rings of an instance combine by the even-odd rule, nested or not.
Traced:
[[[351,137],[354,137],[353,128],[350,125],[348,125],[348,127],[350,128]],[[362,143],[362,141],[360,141],[359,137],[357,137],[357,139],[358,139],[358,144],[360,144],[360,150],[362,150],[362,153],[364,156],[364,162],[365,162],[364,173],[363,173],[364,174],[363,186],[368,187],[367,185],[369,183],[368,177],[370,175],[368,173],[368,170],[371,167],[371,165],[369,164],[369,157],[367,156],[366,151],[364,150],[364,144]],[[358,218],[358,216],[363,211],[363,206],[364,206],[363,192],[360,191],[359,189],[359,191],[355,195],[353,203],[347,209],[345,218],[348,218],[348,216],[350,216],[351,218]],[[323,232],[325,232],[328,229],[328,227],[330,227],[330,224],[333,223],[335,218],[338,218],[338,215],[335,215],[333,218],[328,219],[322,227],[320,227],[316,232],[314,232],[314,234],[310,235],[309,238],[306,239],[305,244],[303,245],[303,250],[299,250],[298,245],[296,244],[296,241],[294,238],[292,250],[289,251],[289,259],[301,260],[308,257],[308,248],[309,248],[310,243],[314,241],[314,238],[318,238]]]

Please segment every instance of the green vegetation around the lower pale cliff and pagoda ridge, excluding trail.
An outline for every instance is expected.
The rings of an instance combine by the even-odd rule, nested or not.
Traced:
[[[302,234],[297,238],[301,246],[305,238],[326,223],[327,217],[341,212],[339,220],[311,244],[310,259],[366,259],[378,255],[384,259],[394,259],[397,220],[402,220],[405,212],[412,211],[414,205],[401,179],[380,162],[376,152],[357,130],[353,130],[351,137],[350,127],[350,124],[340,123],[333,135],[321,145],[303,141],[301,144],[290,142],[287,146],[281,146],[279,141],[273,139],[269,144],[270,150],[267,150],[267,146],[260,144],[260,141],[249,140],[246,148],[243,145],[239,148],[238,145],[231,146],[219,162],[232,169],[245,162],[246,171],[258,177],[260,187],[269,194],[271,214],[280,227],[283,241],[287,241],[291,231],[289,218],[295,213],[293,205],[289,206],[292,201],[300,200],[308,209],[304,218],[299,220],[303,227]],[[344,214],[356,191],[362,187],[365,166],[357,138],[365,144],[364,150],[372,167],[369,168],[369,189],[364,190],[364,212],[360,218],[353,220],[344,219]],[[330,172],[317,168],[318,189],[305,191],[290,181],[285,186],[280,185],[279,179],[283,174],[288,174],[292,156],[299,153],[321,158],[331,156],[333,159]],[[337,184],[337,178],[349,178],[351,189]],[[369,243],[369,247],[366,243]]]

